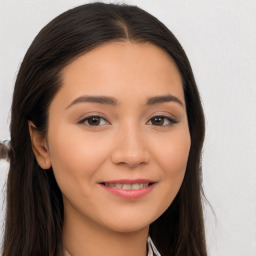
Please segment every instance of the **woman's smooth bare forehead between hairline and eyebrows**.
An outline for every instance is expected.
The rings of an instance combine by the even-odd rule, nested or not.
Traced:
[[[151,43],[110,42],[78,57],[62,70],[67,98],[79,94],[113,96],[175,94],[184,100],[175,62]],[[148,94],[148,95],[147,95]]]

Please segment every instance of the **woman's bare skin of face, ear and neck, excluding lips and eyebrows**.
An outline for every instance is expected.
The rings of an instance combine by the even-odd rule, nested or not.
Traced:
[[[110,96],[117,104],[74,102],[85,95]],[[163,95],[180,103],[146,104]],[[90,116],[102,118],[92,126]],[[63,243],[70,254],[145,256],[149,225],[178,193],[190,150],[181,76],[171,57],[150,43],[128,41],[80,56],[62,71],[47,136],[32,123],[30,134],[39,165],[53,168],[63,194]],[[99,185],[138,178],[155,185],[136,199]]]

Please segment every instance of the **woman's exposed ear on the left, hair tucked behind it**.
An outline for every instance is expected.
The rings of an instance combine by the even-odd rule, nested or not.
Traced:
[[[51,160],[48,151],[47,141],[36,126],[29,121],[29,134],[32,143],[32,149],[35,154],[37,163],[42,169],[49,169],[51,167]]]

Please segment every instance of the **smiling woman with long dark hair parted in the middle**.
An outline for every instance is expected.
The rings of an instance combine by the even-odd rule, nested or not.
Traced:
[[[155,17],[93,3],[51,21],[20,67],[10,130],[4,256],[206,255],[203,111]]]

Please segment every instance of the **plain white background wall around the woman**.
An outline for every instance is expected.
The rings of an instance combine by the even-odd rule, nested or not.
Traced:
[[[39,30],[88,1],[0,1],[0,141],[13,84]],[[117,1],[112,1],[117,2]],[[122,1],[118,1],[122,2]],[[133,0],[160,19],[192,64],[206,114],[203,186],[210,256],[256,255],[256,1]],[[0,231],[8,164],[0,161]],[[0,233],[1,243],[1,233]]]

